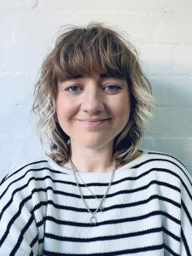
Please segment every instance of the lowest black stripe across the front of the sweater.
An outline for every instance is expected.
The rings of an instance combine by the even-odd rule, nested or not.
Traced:
[[[125,255],[125,254],[132,254],[132,253],[146,253],[146,252],[152,252],[152,251],[157,251],[160,249],[163,249],[164,245],[154,245],[154,246],[148,246],[148,247],[138,247],[138,248],[132,248],[132,249],[127,249],[127,250],[122,250],[122,251],[115,251],[115,252],[109,252],[109,253],[89,253],[89,254],[74,254],[75,256],[84,256],[84,255],[89,255],[89,256],[112,256],[112,255]],[[68,253],[55,253],[55,252],[48,252],[44,250],[44,255],[46,256],[61,256],[61,255],[71,255]]]

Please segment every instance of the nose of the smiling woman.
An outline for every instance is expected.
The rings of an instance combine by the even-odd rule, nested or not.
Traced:
[[[84,93],[81,108],[84,112],[90,114],[101,113],[104,109],[102,91],[96,84],[90,84],[89,88]]]

